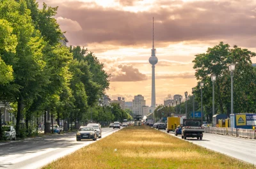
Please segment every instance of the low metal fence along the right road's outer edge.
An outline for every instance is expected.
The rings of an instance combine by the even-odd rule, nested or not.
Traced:
[[[239,136],[243,138],[255,139],[255,130],[254,129],[237,129],[237,128],[205,128],[205,133],[213,133],[218,135],[230,135],[230,136]]]

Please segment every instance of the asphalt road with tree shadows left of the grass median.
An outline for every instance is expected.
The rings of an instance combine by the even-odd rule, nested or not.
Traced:
[[[102,138],[119,129],[103,128]],[[97,138],[100,140],[101,138]],[[41,168],[95,141],[76,141],[76,133],[65,133],[12,141],[0,145],[0,168]]]

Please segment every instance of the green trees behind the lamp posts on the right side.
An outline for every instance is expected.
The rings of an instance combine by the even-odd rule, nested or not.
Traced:
[[[256,113],[256,70],[252,66],[252,57],[255,52],[251,52],[246,48],[239,48],[234,45],[223,43],[222,41],[208,48],[204,54],[195,55],[193,60],[195,69],[195,77],[198,80],[195,86],[195,111],[200,111],[201,91],[200,82],[204,82],[203,92],[203,110],[207,120],[212,121],[212,82],[211,75],[216,75],[214,85],[215,96],[215,112],[214,114],[230,115],[231,109],[231,78],[228,65],[236,64],[234,71],[234,113]],[[193,111],[193,98],[188,97],[188,116]],[[177,105],[177,107],[168,108],[159,106],[154,112],[154,117],[159,117],[159,112],[175,113],[176,108],[181,114],[185,114],[185,102]],[[158,114],[157,114],[158,113]],[[164,117],[166,115],[164,113]],[[163,117],[163,115],[161,116]]]

